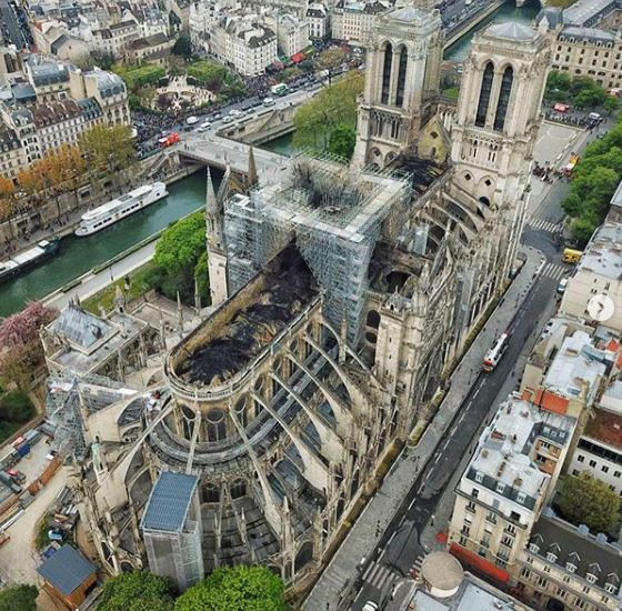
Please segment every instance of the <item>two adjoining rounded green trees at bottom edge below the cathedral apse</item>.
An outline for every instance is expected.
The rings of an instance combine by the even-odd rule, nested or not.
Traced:
[[[287,611],[283,583],[263,567],[220,568],[175,599],[170,582],[149,571],[108,580],[98,611]]]

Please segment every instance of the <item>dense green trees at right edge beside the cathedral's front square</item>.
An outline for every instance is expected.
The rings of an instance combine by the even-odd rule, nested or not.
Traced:
[[[585,244],[603,222],[621,179],[622,123],[619,121],[604,138],[585,148],[574,169],[570,193],[562,203],[572,219],[572,236],[580,244]]]

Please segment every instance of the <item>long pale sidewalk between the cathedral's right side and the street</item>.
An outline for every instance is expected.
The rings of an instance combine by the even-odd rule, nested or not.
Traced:
[[[361,517],[309,593],[302,604],[303,611],[339,609],[340,594],[343,597],[348,585],[357,578],[357,565],[364,562],[364,559],[374,551],[382,532],[399,509],[403,495],[433,454],[442,434],[462,404],[465,390],[478,374],[485,352],[499,332],[512,321],[535,280],[538,269],[544,261],[542,254],[532,248],[523,248],[521,252],[526,257],[521,272],[454,370],[450,379],[450,390],[417,449],[407,450],[398,457],[382,485],[370,499]]]

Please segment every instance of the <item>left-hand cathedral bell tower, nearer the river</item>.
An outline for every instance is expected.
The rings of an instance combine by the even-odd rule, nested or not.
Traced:
[[[443,30],[438,10],[407,6],[382,14],[368,46],[353,163],[388,166],[413,144],[439,93]]]

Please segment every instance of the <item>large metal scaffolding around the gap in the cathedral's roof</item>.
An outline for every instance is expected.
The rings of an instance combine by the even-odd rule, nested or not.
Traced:
[[[357,345],[375,243],[389,217],[391,232],[403,222],[409,201],[405,176],[294,157],[278,184],[224,204],[231,292],[294,241],[324,291],[324,315],[335,328],[345,320],[348,341]]]

